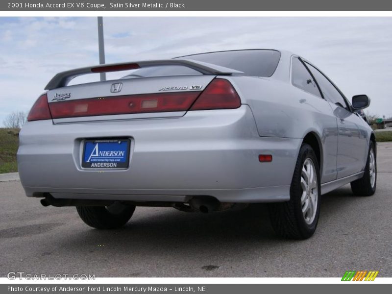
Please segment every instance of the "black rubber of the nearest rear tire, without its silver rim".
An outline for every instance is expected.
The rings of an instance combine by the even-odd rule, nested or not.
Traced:
[[[301,195],[303,189],[301,187],[302,168],[305,160],[310,159],[315,168],[317,177],[317,204],[314,220],[311,223],[305,221],[302,213]],[[309,162],[309,161],[308,161]],[[316,188],[314,188],[316,189]],[[314,190],[312,189],[312,191]],[[308,144],[302,144],[299,149],[298,158],[295,164],[293,179],[290,187],[290,200],[281,203],[271,203],[269,205],[269,214],[272,228],[275,233],[283,238],[288,239],[307,239],[316,231],[320,213],[320,172],[319,162],[312,147]]]

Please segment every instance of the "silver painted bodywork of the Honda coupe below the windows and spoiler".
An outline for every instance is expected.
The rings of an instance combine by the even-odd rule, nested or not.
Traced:
[[[186,202],[214,196],[223,202],[290,199],[299,148],[309,133],[320,147],[322,194],[365,169],[371,128],[354,113],[291,84],[291,52],[281,51],[271,77],[210,73],[88,83],[49,90],[69,99],[158,93],[167,86],[231,82],[242,106],[227,110],[143,113],[27,122],[20,133],[18,170],[27,196]],[[121,93],[111,93],[122,82]],[[188,88],[180,91],[190,91]],[[342,121],[343,119],[343,121]],[[82,144],[92,138],[129,138],[127,169],[81,167]],[[350,141],[350,139],[354,141]],[[350,142],[353,142],[352,144]],[[353,150],[355,148],[355,150]],[[272,162],[259,162],[271,154]]]

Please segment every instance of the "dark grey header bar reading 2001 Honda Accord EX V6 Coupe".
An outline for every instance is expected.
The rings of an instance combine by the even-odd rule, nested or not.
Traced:
[[[388,0],[1,0],[5,11],[385,11]]]

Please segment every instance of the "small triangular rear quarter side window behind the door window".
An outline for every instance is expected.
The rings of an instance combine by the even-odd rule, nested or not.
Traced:
[[[312,75],[296,57],[292,61],[291,82],[295,87],[321,98],[319,88],[313,80]]]

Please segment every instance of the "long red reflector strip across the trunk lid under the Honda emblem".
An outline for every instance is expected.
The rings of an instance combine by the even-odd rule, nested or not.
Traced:
[[[187,111],[200,92],[86,98],[49,103],[53,119],[96,115]]]

